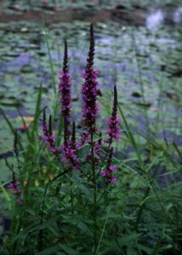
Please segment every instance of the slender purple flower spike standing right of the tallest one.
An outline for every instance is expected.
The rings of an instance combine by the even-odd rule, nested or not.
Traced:
[[[109,135],[109,139],[105,140],[105,143],[112,143],[113,139],[115,141],[119,141],[120,139],[120,118],[117,116],[117,86],[114,86],[114,102],[111,117],[108,119],[109,129],[107,130],[107,134]]]

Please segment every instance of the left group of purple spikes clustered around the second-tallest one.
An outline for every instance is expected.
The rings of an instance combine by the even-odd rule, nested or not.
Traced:
[[[75,123],[73,122],[72,137],[69,131],[69,125],[71,123],[71,74],[68,73],[68,54],[67,43],[65,40],[65,54],[63,61],[63,70],[61,72],[60,83],[60,102],[61,111],[64,119],[64,143],[60,148],[55,146],[55,138],[52,133],[51,116],[49,119],[49,125],[46,122],[46,113],[43,112],[43,141],[47,143],[50,151],[56,155],[57,160],[60,161],[59,154],[62,153],[62,160],[69,168],[80,170],[79,159],[77,158],[77,146],[75,137]]]

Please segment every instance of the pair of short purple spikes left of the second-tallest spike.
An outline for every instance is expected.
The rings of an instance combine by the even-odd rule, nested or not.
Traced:
[[[46,112],[43,110],[43,125],[42,125],[42,130],[43,130],[43,136],[41,139],[43,142],[45,142],[48,145],[49,150],[58,156],[60,153],[60,149],[55,146],[55,137],[52,133],[52,121],[51,121],[51,115],[49,116],[49,124],[46,122]]]

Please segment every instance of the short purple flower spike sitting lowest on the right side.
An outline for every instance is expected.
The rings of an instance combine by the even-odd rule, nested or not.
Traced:
[[[105,177],[105,183],[117,183],[117,178],[113,176],[112,172],[117,171],[117,166],[111,166],[111,160],[113,155],[113,148],[110,150],[110,154],[108,156],[107,166],[105,170],[100,171],[100,175]]]

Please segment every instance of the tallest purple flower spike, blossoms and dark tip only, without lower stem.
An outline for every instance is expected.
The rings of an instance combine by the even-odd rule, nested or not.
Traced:
[[[90,26],[90,46],[88,51],[87,67],[82,71],[82,78],[85,79],[82,84],[82,117],[84,125],[88,132],[94,133],[95,121],[98,116],[99,105],[96,103],[97,96],[100,95],[98,90],[98,70],[93,68],[94,65],[94,26]]]

